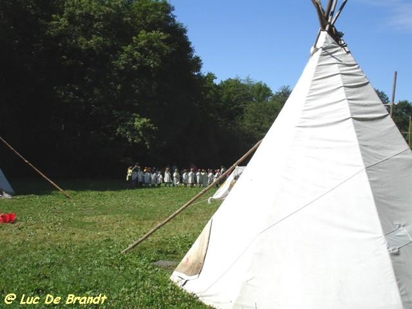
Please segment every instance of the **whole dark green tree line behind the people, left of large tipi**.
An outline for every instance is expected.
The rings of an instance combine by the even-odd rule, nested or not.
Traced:
[[[231,165],[291,91],[202,73],[165,0],[3,0],[0,41],[0,136],[54,176]],[[27,174],[4,146],[0,162]]]

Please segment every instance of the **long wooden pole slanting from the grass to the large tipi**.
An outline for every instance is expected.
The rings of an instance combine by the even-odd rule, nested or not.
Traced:
[[[146,234],[144,234],[144,236],[141,236],[141,238],[139,238],[139,240],[137,240],[136,242],[134,242],[133,244],[130,244],[129,247],[127,247],[126,249],[124,249],[122,251],[122,253],[126,253],[127,251],[135,248],[138,244],[141,244],[141,242],[143,242],[144,240],[146,240],[146,238],[148,238],[150,235],[152,235],[152,233],[155,233],[155,231],[157,231],[158,229],[160,229],[161,227],[163,227],[163,225],[165,225],[166,223],[170,222],[174,217],[176,217],[178,214],[180,214],[183,210],[185,210],[187,207],[189,207],[194,201],[196,201],[198,198],[200,198],[203,194],[205,194],[207,191],[209,191],[212,187],[214,187],[216,185],[216,183],[218,183],[220,180],[222,180],[227,174],[229,174],[232,170],[234,170],[234,168],[236,168],[236,166],[238,166],[240,163],[242,163],[242,161],[244,161],[244,159],[246,159],[247,157],[249,157],[249,155],[251,155],[251,153],[253,151],[256,150],[256,148],[259,147],[260,143],[262,142],[262,140],[258,141],[258,143],[255,144],[255,146],[253,146],[251,149],[249,149],[248,152],[246,152],[240,159],[238,159],[238,161],[236,161],[236,163],[234,163],[233,165],[231,165],[230,168],[227,169],[226,172],[224,172],[223,174],[221,174],[218,179],[216,179],[216,181],[214,181],[213,183],[211,183],[210,185],[208,185],[207,187],[205,187],[205,189],[203,189],[201,192],[199,192],[198,194],[196,194],[196,196],[192,197],[190,199],[190,201],[188,201],[187,203],[185,203],[185,205],[183,205],[182,207],[180,207],[179,209],[177,209],[176,211],[174,211],[173,214],[171,214],[170,216],[168,216],[168,218],[165,218],[165,220],[163,220],[162,222],[160,222],[158,225],[156,225],[155,227],[153,227],[152,229],[150,229],[150,231],[148,231]]]

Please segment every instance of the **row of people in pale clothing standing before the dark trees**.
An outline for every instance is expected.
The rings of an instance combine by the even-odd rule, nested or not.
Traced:
[[[214,183],[226,171],[224,166],[220,169],[202,169],[192,166],[183,168],[141,168],[137,163],[127,168],[126,182],[128,187],[207,187]]]

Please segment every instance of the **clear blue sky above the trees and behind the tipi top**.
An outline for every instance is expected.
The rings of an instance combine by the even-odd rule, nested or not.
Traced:
[[[249,77],[273,92],[295,86],[319,29],[310,0],[169,3],[203,72],[214,73],[217,82]],[[412,0],[349,0],[335,25],[373,87],[391,98],[398,71],[395,102],[412,102]]]

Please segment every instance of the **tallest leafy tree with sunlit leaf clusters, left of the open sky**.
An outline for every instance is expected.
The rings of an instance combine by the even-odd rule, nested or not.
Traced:
[[[67,0],[49,34],[69,72],[57,87],[66,132],[107,157],[175,153],[197,116],[201,61],[166,1]]]

